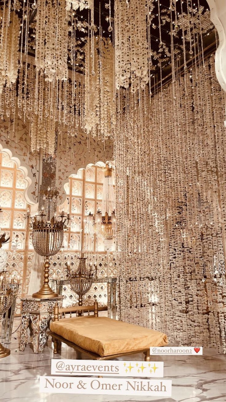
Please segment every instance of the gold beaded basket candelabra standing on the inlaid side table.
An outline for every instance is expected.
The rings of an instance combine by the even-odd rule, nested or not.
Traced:
[[[45,257],[43,285],[38,292],[32,295],[36,298],[49,299],[58,296],[58,293],[53,292],[49,286],[49,257],[57,254],[62,247],[64,230],[68,228],[70,222],[69,214],[65,215],[64,211],[60,213],[60,216],[56,216],[58,194],[58,190],[48,187],[43,196],[44,205],[41,213],[31,218],[28,209],[26,215],[27,222],[32,229],[34,250]]]

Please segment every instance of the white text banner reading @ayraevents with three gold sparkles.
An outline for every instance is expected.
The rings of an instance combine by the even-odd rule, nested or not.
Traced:
[[[52,359],[52,375],[107,375],[121,377],[163,377],[162,361],[97,361]]]

